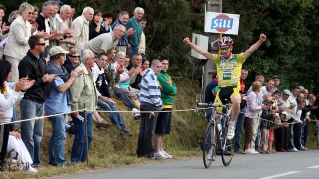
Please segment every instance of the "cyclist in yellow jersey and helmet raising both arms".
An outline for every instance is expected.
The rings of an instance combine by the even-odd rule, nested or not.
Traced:
[[[222,55],[211,54],[203,48],[191,43],[188,37],[183,40],[186,45],[204,55],[207,59],[211,59],[216,64],[219,90],[214,103],[219,105],[225,104],[225,99],[230,99],[232,103],[231,122],[227,132],[228,140],[233,139],[235,136],[235,121],[240,109],[241,96],[239,91],[242,64],[265,40],[266,35],[261,33],[259,40],[250,46],[248,50],[244,53],[233,54],[233,39],[229,36],[224,36],[218,40],[218,46]],[[216,118],[219,120],[218,116],[216,116]],[[218,123],[219,121],[216,122]]]

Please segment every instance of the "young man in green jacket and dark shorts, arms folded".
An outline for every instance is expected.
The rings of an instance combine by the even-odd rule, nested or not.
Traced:
[[[170,79],[170,76],[166,73],[168,69],[168,58],[161,57],[160,61],[162,68],[157,77],[160,84],[160,98],[163,102],[163,109],[161,111],[171,111],[177,88],[175,83]],[[160,112],[156,123],[154,137],[155,159],[170,159],[173,157],[163,150],[164,134],[170,134],[170,123],[171,112]]]

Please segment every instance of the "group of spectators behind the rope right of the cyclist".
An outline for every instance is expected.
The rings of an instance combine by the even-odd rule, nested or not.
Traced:
[[[242,69],[240,77],[241,104],[235,128],[235,153],[270,154],[276,152],[306,151],[308,124],[312,116],[319,119],[319,109],[315,106],[316,96],[303,86],[291,90],[280,89],[280,77],[269,78],[264,85],[262,75],[248,88],[248,70]],[[206,87],[205,102],[213,102],[218,79],[216,74]],[[210,110],[206,110],[210,116]],[[319,123],[316,121],[319,129]],[[244,147],[240,141],[245,129]],[[276,147],[273,149],[273,141]],[[319,133],[317,136],[319,148]]]

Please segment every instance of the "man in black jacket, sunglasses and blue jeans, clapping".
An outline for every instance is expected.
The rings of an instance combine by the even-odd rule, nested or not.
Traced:
[[[24,93],[20,101],[21,120],[43,116],[47,83],[55,80],[54,74],[46,73],[45,40],[41,35],[29,37],[30,50],[18,65],[19,79],[28,77],[34,85]],[[21,122],[21,138],[33,161],[32,167],[40,167],[40,142],[43,136],[43,120]]]

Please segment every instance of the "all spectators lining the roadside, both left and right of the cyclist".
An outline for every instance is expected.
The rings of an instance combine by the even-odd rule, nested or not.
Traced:
[[[143,32],[147,19],[143,18],[143,8],[135,8],[132,17],[127,11],[121,11],[116,18],[110,11],[85,7],[80,16],[74,17],[75,9],[60,0],[44,2],[41,10],[24,2],[10,13],[10,25],[2,22],[5,10],[0,5],[0,39],[6,40],[0,46],[0,123],[18,120],[17,103],[20,120],[44,116],[44,113],[55,115],[48,118],[52,124],[48,163],[70,166],[64,156],[69,119],[74,126],[73,164],[87,160],[85,133],[90,150],[93,123],[100,130],[112,126],[98,112],[84,113],[85,108],[114,111],[109,113],[110,120],[119,129],[120,137],[133,136],[118,112],[113,100],[117,98],[135,120],[140,120],[137,156],[172,157],[163,150],[163,137],[170,134],[169,111],[177,89],[166,73],[169,59],[161,57],[152,62],[147,59]],[[301,87],[279,91],[278,76],[262,86],[262,75],[256,76],[256,82],[247,92],[247,75],[248,71],[243,69],[242,113],[236,123],[235,151],[240,154],[274,152],[274,135],[276,151],[308,150],[307,124],[310,115],[319,117],[319,109],[314,106],[316,96]],[[214,77],[208,85],[210,90],[206,90],[210,92],[206,99],[213,100],[211,91],[218,83],[216,75]],[[141,114],[140,110],[161,112]],[[262,121],[260,117],[273,122]],[[17,123],[0,125],[0,163],[13,148],[20,151],[19,157],[24,163],[30,164],[27,170],[37,172],[43,120],[21,122],[20,126],[21,135],[17,132]],[[245,151],[242,151],[240,138],[244,127]]]

